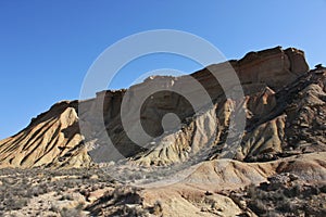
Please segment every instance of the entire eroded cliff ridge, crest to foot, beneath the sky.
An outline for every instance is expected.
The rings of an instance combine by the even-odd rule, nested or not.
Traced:
[[[210,71],[225,68],[225,64],[230,64],[237,72],[244,99],[225,99],[217,80],[210,74]],[[2,140],[0,164],[78,167],[89,165],[88,153],[102,162],[118,159],[114,158],[117,156],[114,152],[120,152],[122,157],[134,158],[137,164],[164,165],[187,161],[191,154],[199,153],[209,142],[208,132],[214,133],[214,141],[209,144],[210,158],[233,152],[238,159],[267,161],[285,152],[323,151],[325,75],[321,69],[317,73],[308,71],[302,51],[277,47],[250,52],[239,61],[211,65],[193,73],[191,77],[204,87],[214,102],[211,107],[202,107],[199,116],[193,116],[191,103],[175,92],[155,92],[141,105],[128,104],[127,114],[140,110],[143,129],[156,138],[155,141],[145,140],[146,148],[135,144],[122,124],[121,104],[127,90],[99,92],[95,99],[79,102],[84,105],[83,111],[78,111],[77,102],[62,102],[38,116],[20,133]],[[187,76],[151,77],[133,86],[128,90],[133,93],[129,98],[141,98],[158,84],[186,87],[190,81]],[[198,91],[192,88],[188,93]],[[246,112],[247,116],[244,133],[234,136],[234,139],[242,139],[242,144],[237,150],[224,149],[228,146],[224,142],[230,117],[238,112]],[[179,117],[179,129],[164,131],[162,118],[168,113]],[[80,123],[83,136],[78,128]],[[129,125],[133,128],[135,123],[130,120]],[[108,136],[113,149],[108,149]]]

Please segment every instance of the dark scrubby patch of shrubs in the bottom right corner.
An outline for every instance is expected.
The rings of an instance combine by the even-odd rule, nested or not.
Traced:
[[[323,193],[325,184],[313,186],[300,180],[288,180],[248,186],[242,200],[259,216],[326,216],[326,195]]]

